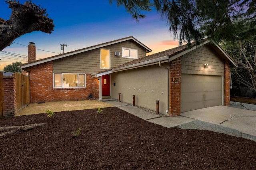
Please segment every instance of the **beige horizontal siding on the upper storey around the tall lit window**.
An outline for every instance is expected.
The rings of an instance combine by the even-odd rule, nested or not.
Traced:
[[[146,56],[146,49],[134,41],[125,41],[102,47],[103,49],[110,49],[111,68],[133,60],[122,57],[122,47],[138,49],[138,58]],[[120,56],[115,56],[115,52],[120,52]],[[53,61],[54,73],[95,73],[104,70],[100,69],[100,48]]]

